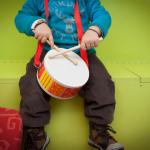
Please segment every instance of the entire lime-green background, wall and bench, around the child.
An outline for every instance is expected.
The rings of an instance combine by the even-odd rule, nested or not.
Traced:
[[[17,32],[14,17],[24,0],[0,4],[0,106],[18,109],[18,79],[34,54],[36,41]],[[116,84],[113,127],[126,150],[149,150],[150,144],[150,1],[102,0],[112,15],[112,27],[97,49]],[[92,150],[83,101],[52,100],[47,126],[51,150]]]

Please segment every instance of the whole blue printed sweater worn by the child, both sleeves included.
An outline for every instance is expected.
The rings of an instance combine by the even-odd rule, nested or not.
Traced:
[[[111,25],[109,13],[101,6],[99,0],[78,0],[84,31],[89,26],[98,26],[103,38]],[[75,0],[49,0],[48,25],[52,30],[55,44],[60,47],[72,47],[78,43],[74,21]],[[44,0],[26,0],[22,9],[15,17],[15,24],[20,32],[33,36],[31,26],[37,19],[45,19]],[[49,50],[45,44],[46,50]],[[92,52],[89,50],[89,52]]]

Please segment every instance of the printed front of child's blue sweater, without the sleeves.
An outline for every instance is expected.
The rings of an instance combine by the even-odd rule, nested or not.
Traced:
[[[39,0],[40,1],[40,0]],[[52,30],[55,43],[71,44],[78,43],[77,30],[74,20],[75,0],[49,0],[48,24]],[[41,16],[45,17],[44,6],[38,5]],[[88,28],[88,14],[84,0],[79,0],[79,9],[84,31]]]

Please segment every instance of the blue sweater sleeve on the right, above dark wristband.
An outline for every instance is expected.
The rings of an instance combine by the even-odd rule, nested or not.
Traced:
[[[111,26],[111,16],[101,5],[99,0],[85,0],[87,5],[90,26],[98,26],[105,38]]]

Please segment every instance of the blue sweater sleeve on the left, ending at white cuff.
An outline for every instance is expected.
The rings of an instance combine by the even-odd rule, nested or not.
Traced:
[[[44,19],[39,16],[37,0],[26,0],[22,9],[15,17],[15,25],[19,32],[33,36],[31,26],[38,19]]]

